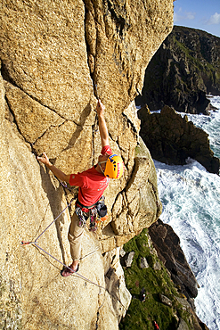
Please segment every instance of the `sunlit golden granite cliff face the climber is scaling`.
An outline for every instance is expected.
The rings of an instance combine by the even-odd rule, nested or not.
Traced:
[[[118,247],[161,212],[134,98],[172,29],[173,2],[4,0],[0,20],[0,327],[117,329],[131,299]],[[60,276],[57,260],[70,261],[69,210],[38,241],[57,260],[21,241],[35,241],[73,196],[36,155],[47,153],[66,173],[97,161],[94,85],[126,170],[106,191],[108,220],[97,234],[85,233],[79,273],[92,284]]]

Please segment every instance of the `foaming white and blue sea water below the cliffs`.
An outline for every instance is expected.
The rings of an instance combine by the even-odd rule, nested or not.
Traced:
[[[217,108],[210,116],[187,116],[208,133],[210,147],[220,158],[220,96],[210,101]],[[160,219],[180,237],[200,285],[197,315],[210,330],[220,329],[220,177],[191,159],[184,166],[154,162],[163,204]]]

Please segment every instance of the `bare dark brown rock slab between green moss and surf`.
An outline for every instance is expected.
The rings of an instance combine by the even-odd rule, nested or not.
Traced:
[[[159,260],[163,262],[167,270],[170,272],[170,276],[174,281],[178,292],[183,293],[184,298],[187,299],[176,298],[177,301],[183,305],[183,309],[188,310],[191,313],[191,323],[193,324],[193,328],[198,330],[208,329],[208,326],[206,326],[196,315],[193,298],[196,298],[198,294],[199,285],[185,259],[183,250],[180,246],[179,237],[175,234],[172,227],[164,224],[160,219],[149,227],[149,235],[151,236],[154,248],[158,252]],[[164,298],[161,298],[161,294],[160,300],[164,300]],[[185,322],[180,318],[177,329],[189,329],[187,325],[183,327],[183,323]]]

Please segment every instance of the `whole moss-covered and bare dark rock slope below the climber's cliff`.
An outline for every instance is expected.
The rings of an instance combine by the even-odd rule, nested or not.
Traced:
[[[120,329],[150,329],[154,320],[160,329],[208,329],[196,315],[191,297],[198,285],[179,243],[173,229],[158,220],[123,246],[122,265],[132,300]],[[128,267],[124,253],[134,254]]]

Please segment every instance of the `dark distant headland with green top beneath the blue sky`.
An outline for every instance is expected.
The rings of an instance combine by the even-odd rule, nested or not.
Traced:
[[[206,113],[206,94],[220,95],[220,37],[175,26],[147,67],[138,105],[159,110]]]

